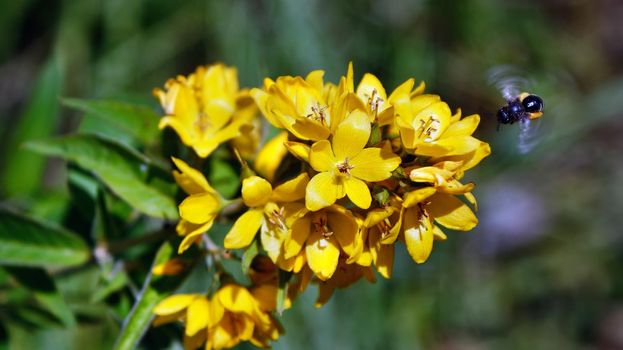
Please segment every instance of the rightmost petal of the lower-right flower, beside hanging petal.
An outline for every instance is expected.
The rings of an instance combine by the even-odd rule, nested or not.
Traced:
[[[437,193],[429,200],[428,212],[435,221],[449,229],[469,231],[478,224],[476,215],[467,204],[453,195]]]

